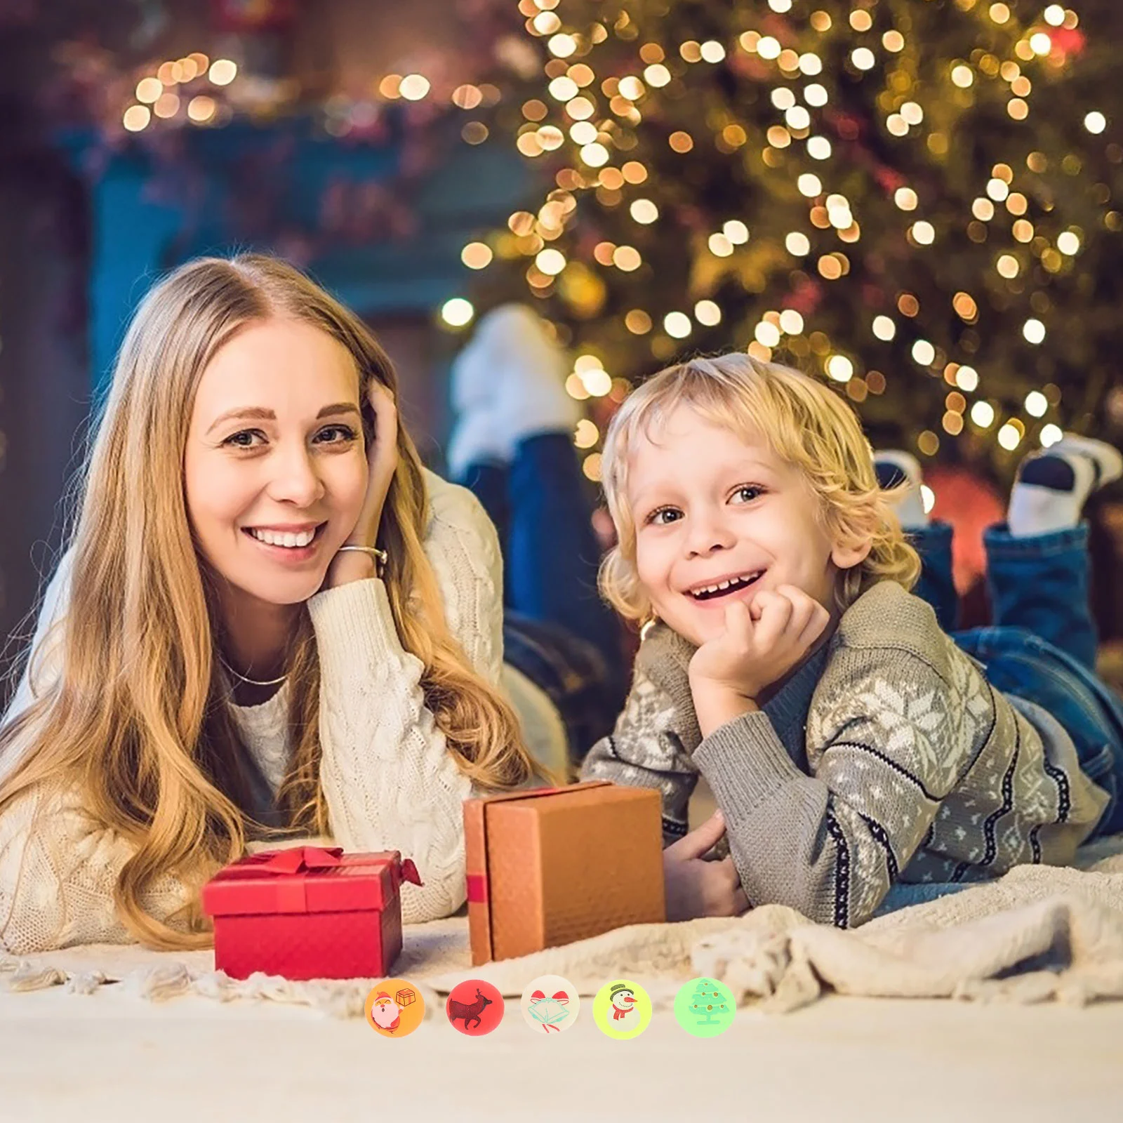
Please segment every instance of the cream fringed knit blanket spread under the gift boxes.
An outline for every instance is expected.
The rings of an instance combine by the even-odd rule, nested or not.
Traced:
[[[95,944],[0,958],[0,996],[62,986],[91,994],[115,985],[138,998],[198,994],[220,1002],[271,1001],[362,1017],[374,979],[290,983],[230,979],[213,955]],[[610,978],[645,986],[656,1008],[685,980],[723,979],[738,1003],[783,1012],[825,992],[975,1001],[1123,998],[1123,836],[1086,847],[1076,868],[1019,866],[1004,877],[841,931],[782,905],[736,920],[637,924],[519,959],[473,968],[467,920],[408,925],[394,975],[422,984],[427,1015],[465,978],[518,997],[538,975],[563,975],[592,995]]]

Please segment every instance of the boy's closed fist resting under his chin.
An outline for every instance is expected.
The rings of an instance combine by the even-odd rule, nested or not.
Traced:
[[[694,652],[691,687],[755,701],[796,666],[830,622],[830,613],[795,585],[761,590],[751,608],[725,606],[725,629]]]

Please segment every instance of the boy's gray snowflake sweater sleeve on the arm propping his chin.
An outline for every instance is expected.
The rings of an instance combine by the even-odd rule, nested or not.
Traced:
[[[725,815],[749,901],[849,928],[868,920],[916,851],[964,764],[950,694],[922,660],[846,650],[847,690],[809,725],[805,775],[768,716],[704,738],[694,763]]]

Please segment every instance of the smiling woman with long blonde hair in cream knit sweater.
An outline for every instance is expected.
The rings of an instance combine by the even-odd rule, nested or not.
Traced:
[[[412,857],[407,922],[460,905],[462,801],[535,767],[494,528],[395,399],[282,262],[146,296],[0,725],[0,947],[207,946],[202,883],[279,830]]]

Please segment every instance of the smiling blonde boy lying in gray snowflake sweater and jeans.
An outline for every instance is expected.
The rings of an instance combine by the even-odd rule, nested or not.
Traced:
[[[894,883],[1065,864],[1123,829],[1123,705],[1092,670],[1078,526],[1120,474],[1110,446],[1023,465],[987,538],[998,627],[958,641],[909,592],[921,563],[893,504],[919,480],[883,491],[815,380],[736,354],[670,367],[624,402],[603,463],[602,587],[646,627],[582,775],[661,789],[668,919],[776,902],[850,926]],[[926,576],[947,577],[932,531]],[[683,838],[700,773],[720,811]],[[723,832],[730,857],[701,860]]]

